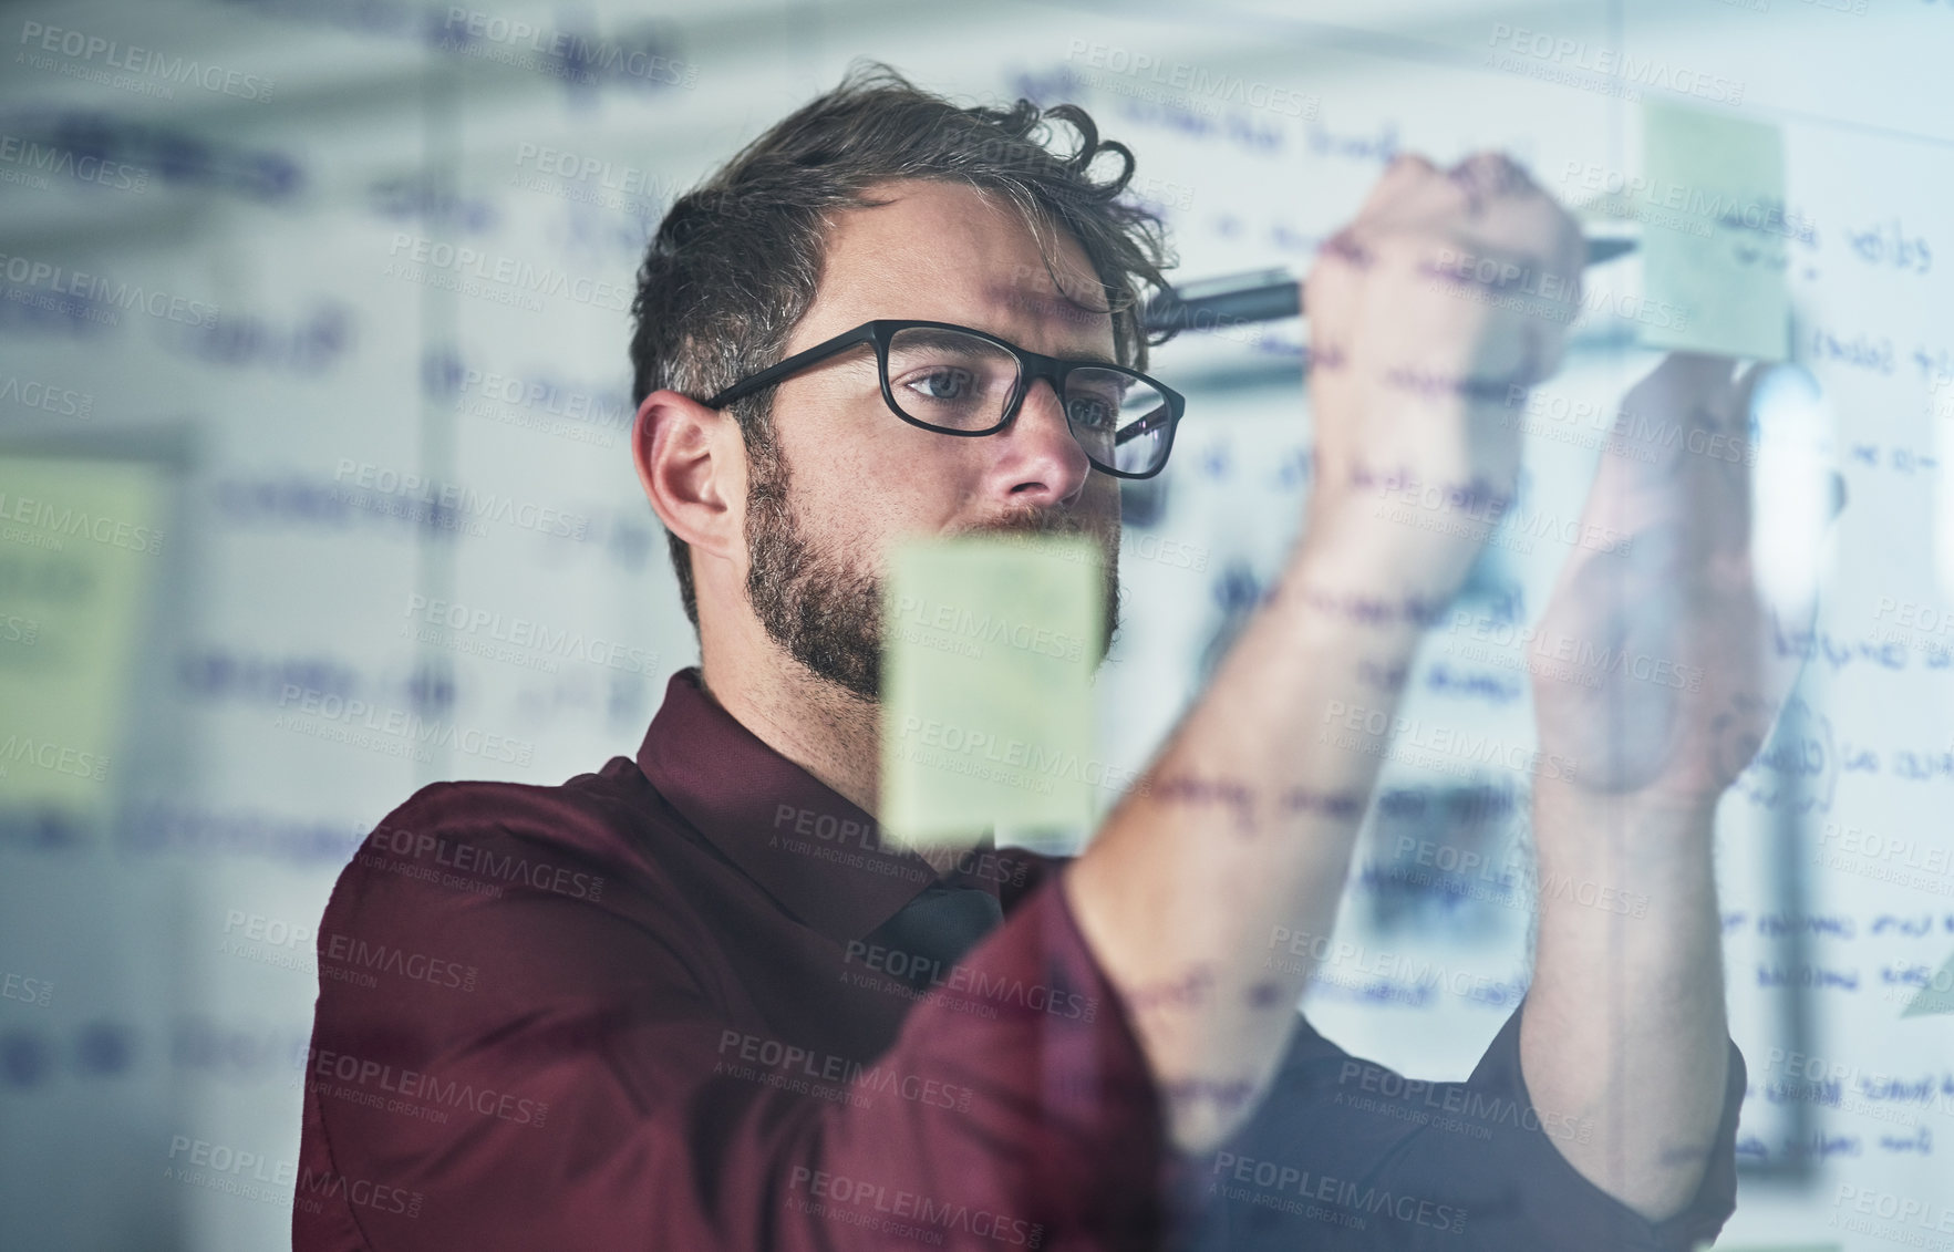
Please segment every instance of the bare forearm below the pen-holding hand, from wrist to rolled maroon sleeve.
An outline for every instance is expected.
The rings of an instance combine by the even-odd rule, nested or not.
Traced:
[[[1395,557],[1364,539],[1296,549],[1067,875],[1182,1150],[1211,1147],[1247,1117],[1288,1043],[1307,963],[1268,961],[1272,936],[1335,926],[1389,742],[1378,730],[1432,605],[1405,590],[1415,580]]]

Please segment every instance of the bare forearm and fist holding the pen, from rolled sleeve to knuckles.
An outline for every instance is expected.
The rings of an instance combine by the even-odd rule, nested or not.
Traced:
[[[1389,742],[1372,729],[1512,494],[1501,418],[1557,363],[1569,318],[1540,316],[1538,295],[1571,307],[1579,262],[1573,221],[1505,158],[1403,158],[1309,277],[1309,527],[1067,873],[1182,1150],[1221,1143],[1268,1090],[1313,961],[1286,953],[1335,930]],[[1380,518],[1407,492],[1419,518]]]

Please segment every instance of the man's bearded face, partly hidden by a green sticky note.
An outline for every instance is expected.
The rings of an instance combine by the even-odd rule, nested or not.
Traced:
[[[838,215],[821,293],[782,355],[871,318],[987,330],[1057,357],[1114,357],[1098,277],[1063,230],[1047,273],[1022,219],[967,188],[897,182],[893,199]],[[975,439],[889,412],[871,348],[828,359],[774,393],[776,443],[746,492],[746,598],[774,643],[864,699],[881,697],[881,576],[891,541],[971,531],[1098,539],[1106,633],[1120,617],[1120,490],[1094,473],[1038,383],[1010,428]]]

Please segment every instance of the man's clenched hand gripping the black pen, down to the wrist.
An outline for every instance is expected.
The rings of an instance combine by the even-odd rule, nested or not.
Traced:
[[[1583,260],[1573,217],[1505,156],[1385,170],[1307,279],[1305,543],[1368,533],[1415,594],[1458,588],[1512,500],[1510,389],[1559,365]]]

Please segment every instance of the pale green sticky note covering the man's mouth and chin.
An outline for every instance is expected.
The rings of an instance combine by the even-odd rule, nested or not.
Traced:
[[[1081,537],[891,549],[877,820],[893,840],[1090,820],[1104,586],[1100,549]]]

